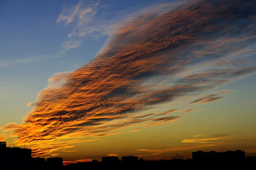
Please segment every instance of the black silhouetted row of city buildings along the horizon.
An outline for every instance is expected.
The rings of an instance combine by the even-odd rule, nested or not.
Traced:
[[[196,151],[192,152],[192,159],[183,159],[183,156],[172,156],[172,159],[161,159],[160,161],[147,161],[138,156],[103,156],[102,161],[93,159],[90,162],[78,162],[63,165],[63,158],[32,158],[32,150],[22,147],[6,147],[6,142],[0,142],[0,165],[14,168],[32,169],[67,169],[80,170],[86,168],[162,168],[172,167],[198,167],[198,166],[228,166],[228,167],[256,167],[254,156],[245,156],[245,151],[227,150],[226,152]]]

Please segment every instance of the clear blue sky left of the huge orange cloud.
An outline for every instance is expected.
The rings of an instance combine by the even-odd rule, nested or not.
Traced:
[[[170,2],[168,0],[102,0],[81,1],[84,9],[99,3],[91,21],[96,27],[111,26],[140,9]],[[26,115],[38,92],[47,86],[47,80],[56,72],[72,71],[90,62],[108,39],[104,30],[93,32],[79,40],[82,43],[67,49],[63,43],[76,28],[78,16],[65,25],[58,22],[61,11],[81,3],[79,0],[1,1],[0,13],[0,107],[6,121],[18,121]],[[99,9],[98,9],[99,8]],[[91,17],[91,16],[89,16]],[[97,36],[97,37],[95,37]],[[64,52],[63,52],[64,51]],[[14,107],[15,105],[15,107]],[[20,120],[15,120],[14,118]],[[1,126],[4,123],[1,122]]]

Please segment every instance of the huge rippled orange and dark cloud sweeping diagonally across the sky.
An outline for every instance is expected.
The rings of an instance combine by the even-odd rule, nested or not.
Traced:
[[[255,5],[254,0],[200,0],[139,15],[116,31],[93,61],[49,78],[61,83],[38,94],[24,124],[3,129],[42,156],[88,141],[81,140],[86,136],[175,121],[180,116],[134,114],[254,74]],[[90,11],[79,10],[78,5],[57,21],[69,24]]]

